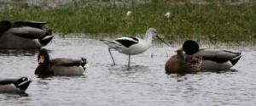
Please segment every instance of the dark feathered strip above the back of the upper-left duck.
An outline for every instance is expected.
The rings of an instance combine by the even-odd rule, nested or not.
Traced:
[[[44,29],[44,26],[47,24],[47,22],[39,22],[39,21],[15,21],[13,23],[14,27],[20,27],[20,26],[30,26],[34,28]]]

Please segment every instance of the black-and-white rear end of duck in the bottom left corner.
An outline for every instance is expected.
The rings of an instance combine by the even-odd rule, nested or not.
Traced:
[[[20,77],[15,79],[1,79],[0,92],[1,93],[25,93],[27,87],[32,81],[27,77]]]

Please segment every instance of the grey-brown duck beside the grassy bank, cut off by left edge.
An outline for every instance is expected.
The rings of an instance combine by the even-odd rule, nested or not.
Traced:
[[[46,46],[54,36],[52,30],[44,30],[46,22],[0,21],[0,48],[39,49]]]

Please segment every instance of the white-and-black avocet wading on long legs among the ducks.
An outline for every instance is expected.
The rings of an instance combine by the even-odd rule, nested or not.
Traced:
[[[143,39],[138,37],[120,37],[113,41],[103,40],[100,41],[104,42],[108,46],[108,52],[111,56],[111,59],[113,60],[113,65],[115,64],[113,55],[111,53],[111,49],[117,50],[119,53],[125,53],[128,55],[128,67],[130,67],[130,59],[131,55],[136,55],[139,53],[143,53],[151,46],[152,37],[156,36],[160,39],[159,36],[157,36],[157,31],[154,28],[149,28],[148,31],[146,31],[145,36]],[[161,42],[164,42],[162,39],[160,39]],[[164,42],[166,43],[166,42]]]

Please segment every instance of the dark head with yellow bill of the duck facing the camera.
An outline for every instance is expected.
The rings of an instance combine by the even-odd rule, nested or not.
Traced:
[[[45,48],[39,50],[38,64],[49,64],[49,54]]]

